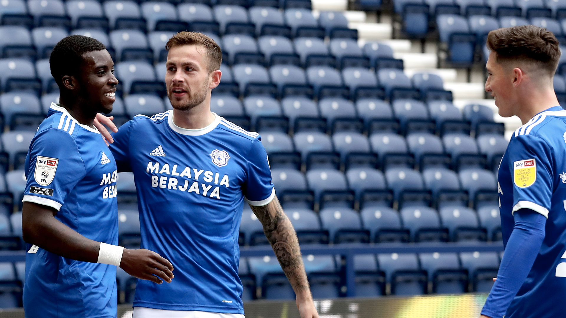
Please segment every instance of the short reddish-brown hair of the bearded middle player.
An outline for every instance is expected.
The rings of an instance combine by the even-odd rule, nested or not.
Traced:
[[[167,41],[165,49],[170,50],[175,46],[200,45],[204,46],[208,55],[208,72],[220,70],[222,64],[222,50],[212,38],[199,32],[179,32]]]

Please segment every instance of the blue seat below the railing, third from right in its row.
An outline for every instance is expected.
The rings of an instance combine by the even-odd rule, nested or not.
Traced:
[[[427,291],[426,272],[421,270],[416,254],[378,254],[379,269],[391,283],[393,295],[422,295]]]

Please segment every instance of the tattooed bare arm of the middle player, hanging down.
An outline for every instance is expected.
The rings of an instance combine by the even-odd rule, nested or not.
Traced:
[[[261,207],[250,205],[250,207],[263,224],[265,237],[273,247],[285,276],[287,276],[295,294],[297,294],[297,307],[301,318],[317,318],[318,313],[312,302],[311,290],[308,287],[297,233],[295,233],[291,221],[283,212],[279,200],[274,197],[267,205]]]

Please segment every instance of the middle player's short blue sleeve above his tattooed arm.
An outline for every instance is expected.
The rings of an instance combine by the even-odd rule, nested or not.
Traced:
[[[273,200],[275,189],[267,161],[267,152],[261,144],[260,136],[253,141],[246,158],[248,160],[247,179],[243,185],[243,194],[251,205],[261,207]]]

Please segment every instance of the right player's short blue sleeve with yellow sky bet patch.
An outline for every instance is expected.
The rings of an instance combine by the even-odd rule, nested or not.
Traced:
[[[548,217],[554,174],[548,144],[537,136],[519,135],[509,143],[509,164],[513,183],[513,209],[527,208]]]

